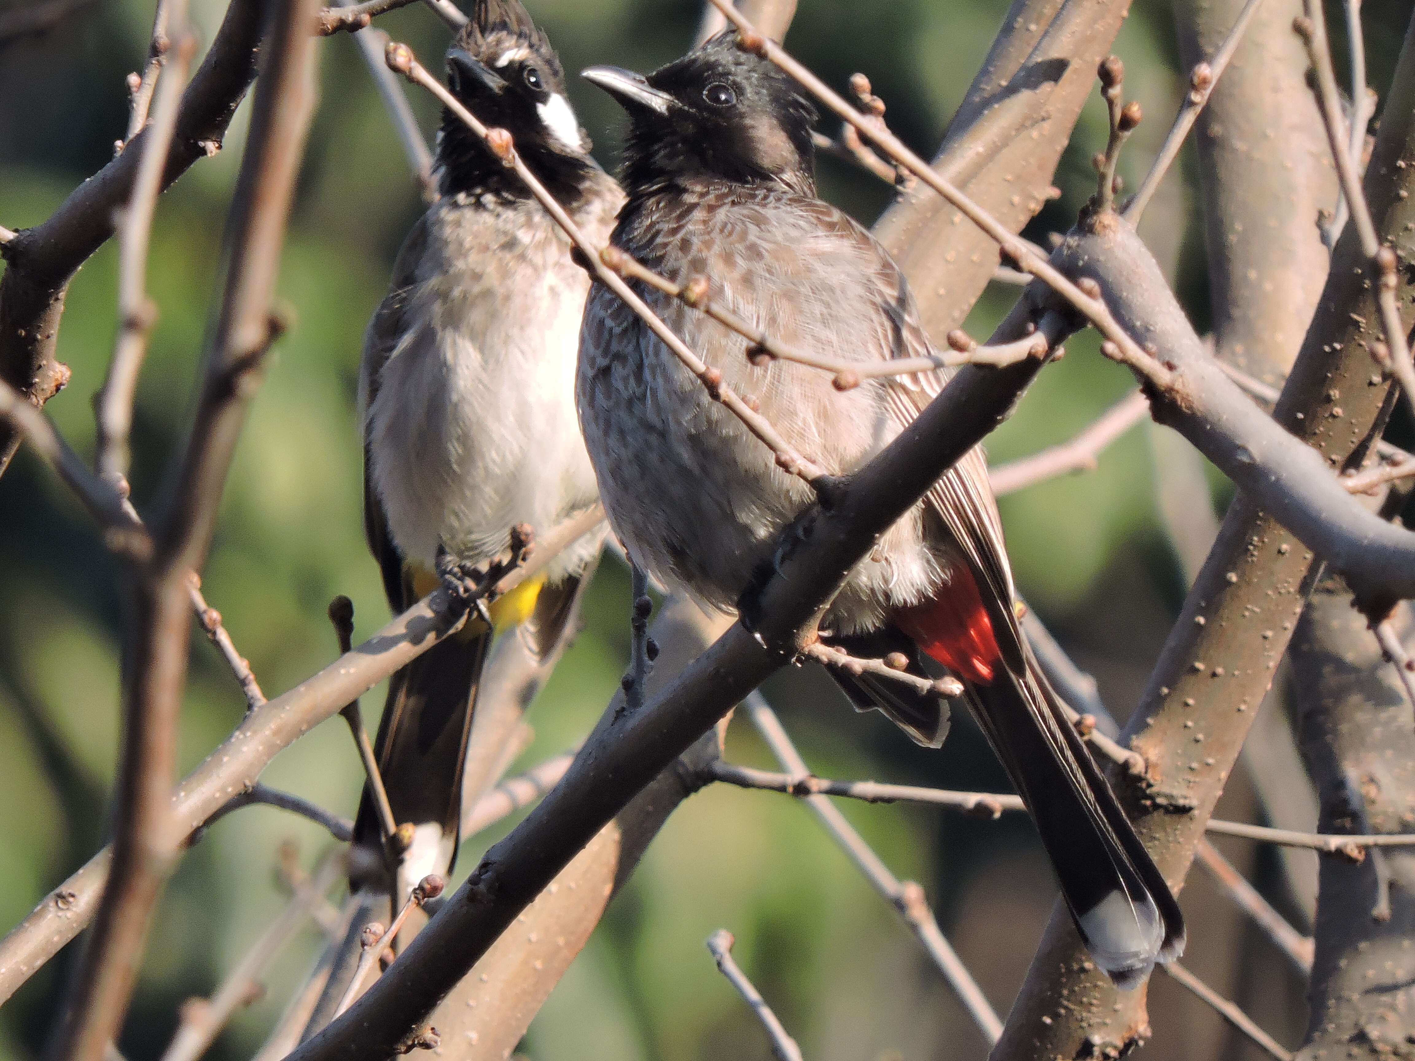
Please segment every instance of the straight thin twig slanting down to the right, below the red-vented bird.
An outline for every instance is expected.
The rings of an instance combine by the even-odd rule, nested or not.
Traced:
[[[781,721],[771,707],[767,706],[761,693],[753,692],[747,696],[743,700],[743,707],[746,707],[753,726],[757,727],[757,733],[766,740],[767,747],[771,748],[771,754],[777,757],[782,768],[790,771],[792,778],[808,778],[811,771],[807,770],[801,753],[795,750],[795,744],[791,743],[787,731],[781,727]],[[1002,1036],[1002,1021],[998,1020],[998,1014],[988,1002],[988,996],[982,993],[972,973],[968,972],[968,966],[962,963],[954,948],[948,944],[948,939],[944,938],[942,931],[938,928],[938,921],[934,920],[934,911],[928,908],[924,888],[911,880],[901,881],[890,873],[889,867],[865,843],[865,837],[855,830],[839,808],[826,796],[807,795],[802,799],[821,825],[825,826],[825,830],[835,837],[835,842],[845,849],[850,860],[870,884],[874,886],[876,891],[893,904],[914,935],[918,937],[924,949],[928,951],[928,956],[934,959],[934,963],[944,973],[944,979],[948,980],[948,985],[954,989],[959,1002],[962,1002],[964,1009],[968,1010],[978,1030],[982,1031],[983,1038],[989,1044],[996,1043]]]

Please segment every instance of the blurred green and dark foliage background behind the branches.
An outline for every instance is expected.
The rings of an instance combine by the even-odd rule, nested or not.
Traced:
[[[700,17],[696,0],[531,0],[529,7],[572,72],[591,62],[652,68],[689,45]],[[893,129],[931,154],[1005,8],[1002,0],[802,0],[788,44],[838,88],[865,71],[889,103]],[[0,3],[0,10],[10,8]],[[211,40],[222,10],[221,0],[192,0],[202,40]],[[110,157],[126,123],[123,78],[143,62],[150,18],[150,0],[100,0],[51,33],[0,50],[0,224],[17,229],[41,221]],[[409,41],[429,65],[447,42],[441,24],[420,6],[379,25]],[[1128,96],[1150,116],[1121,166],[1133,187],[1176,102],[1167,7],[1136,7],[1116,52],[1126,62]],[[211,604],[267,695],[334,656],[324,617],[334,594],[355,601],[361,635],[386,618],[361,529],[355,372],[362,325],[422,208],[354,41],[330,38],[320,55],[323,106],[280,279],[294,327],[252,405],[204,573]],[[1373,72],[1373,83],[1382,83],[1380,78]],[[600,158],[613,166],[616,108],[573,76],[570,92]],[[423,96],[412,102],[430,133],[433,108]],[[245,122],[242,110],[225,150],[183,177],[157,212],[149,290],[161,315],[133,433],[140,509],[160,492],[188,410]],[[1091,191],[1088,160],[1104,139],[1102,112],[1092,99],[1057,175],[1063,197],[1049,205],[1033,235],[1067,228]],[[874,178],[831,158],[821,163],[821,184],[826,198],[866,222],[890,197]],[[1197,231],[1193,187],[1186,156],[1146,215],[1145,235],[1177,273],[1177,289],[1203,325],[1203,246],[1187,235]],[[89,398],[115,334],[115,269],[110,243],[72,284],[59,356],[74,376],[48,406],[85,456],[93,441]],[[986,334],[1013,296],[1015,289],[989,290],[975,313],[975,334]],[[1070,356],[1043,373],[1017,416],[989,443],[995,461],[1068,437],[1133,386],[1094,354],[1087,337],[1070,347]],[[1094,472],[1003,502],[1023,594],[1097,673],[1121,716],[1182,594],[1155,515],[1149,430],[1129,431]],[[0,478],[0,929],[18,921],[105,836],[117,731],[116,573],[64,487],[21,451]],[[625,610],[627,577],[607,562],[589,600],[584,632],[532,709],[536,741],[525,764],[569,747],[597,717],[627,655]],[[852,713],[811,671],[780,676],[767,693],[822,775],[1006,787],[966,721],[955,724],[942,753],[923,753],[877,716]],[[376,712],[381,703],[376,690],[365,697],[365,710]],[[183,714],[183,771],[239,721],[242,706],[229,673],[198,635]],[[770,765],[740,727],[729,750],[740,761]],[[334,721],[283,753],[265,779],[352,815],[361,775],[347,731]],[[843,809],[899,876],[925,884],[945,932],[1006,1011],[1053,894],[1026,821],[976,822],[908,806]],[[283,904],[275,870],[276,847],[287,836],[301,845],[306,864],[327,846],[303,821],[256,808],[219,822],[185,856],[149,945],[120,1044],[127,1058],[156,1057],[178,1004],[209,993]],[[475,864],[477,847],[464,846],[463,871]],[[808,1058],[981,1054],[981,1038],[913,937],[804,808],[785,796],[720,787],[693,796],[669,821],[522,1051],[536,1061],[767,1057],[750,1013],[703,949],[703,939],[720,927],[737,935],[739,961]],[[266,980],[266,997],[238,1016],[212,1057],[250,1055],[317,945],[313,928],[291,941]],[[41,1053],[72,952],[0,1010],[0,1058]],[[1172,990],[1160,985],[1152,1006],[1156,1043],[1169,1045],[1150,1053],[1184,1055],[1184,1044],[1201,1034],[1220,1043],[1208,1017],[1166,993]],[[1299,1014],[1289,1017],[1293,1027],[1300,1027]],[[1225,1050],[1241,1047],[1230,1043]]]

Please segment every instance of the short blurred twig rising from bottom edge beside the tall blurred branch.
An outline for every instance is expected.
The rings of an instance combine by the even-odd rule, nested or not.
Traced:
[[[235,968],[226,973],[211,999],[188,999],[181,1007],[181,1024],[161,1061],[197,1061],[212,1043],[232,1014],[259,997],[259,978],[280,952],[304,918],[310,917],[316,904],[324,901],[324,894],[344,874],[344,850],[327,854],[316,869],[308,887],[296,891],[284,910],[270,922],[269,928],[242,955]]]

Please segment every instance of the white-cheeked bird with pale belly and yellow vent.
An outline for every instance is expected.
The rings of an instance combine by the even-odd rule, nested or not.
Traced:
[[[560,59],[518,0],[477,0],[447,52],[449,86],[516,150],[579,225],[606,239],[624,201],[590,157]],[[589,279],[521,180],[450,112],[437,139],[440,198],[409,233],[359,369],[364,521],[393,613],[427,594],[439,564],[492,563],[512,529],[548,530],[597,499],[574,414],[574,352]],[[456,856],[463,761],[495,628],[549,651],[599,555],[587,535],[393,676],[376,760],[409,842],[400,897]],[[412,825],[412,836],[406,836]],[[383,843],[368,789],[359,871]],[[386,874],[385,874],[386,877]],[[385,887],[392,883],[382,881]]]

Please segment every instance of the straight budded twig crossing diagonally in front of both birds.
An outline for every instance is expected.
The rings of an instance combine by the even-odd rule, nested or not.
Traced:
[[[802,457],[797,453],[785,439],[777,431],[777,429],[767,420],[761,413],[758,413],[753,405],[754,402],[747,402],[739,396],[732,388],[722,382],[722,372],[703,364],[702,358],[693,354],[692,349],[669,328],[664,324],[662,318],[655,314],[648,304],[640,298],[624,279],[618,276],[613,269],[608,267],[607,262],[601,260],[601,253],[607,248],[597,248],[580,228],[570,219],[570,215],[565,212],[565,208],[556,202],[555,197],[546,191],[545,185],[536,180],[535,174],[526,167],[516,154],[515,143],[511,134],[504,129],[488,129],[481,120],[467,110],[461,102],[449,92],[437,78],[427,72],[417,59],[413,57],[412,48],[406,44],[389,44],[388,45],[388,65],[402,74],[405,78],[412,81],[415,85],[422,85],[429,92],[432,92],[437,99],[451,110],[457,117],[460,117],[468,129],[473,130],[487,147],[509,168],[515,170],[516,175],[525,182],[531,194],[535,195],[536,201],[546,209],[546,212],[555,219],[555,222],[570,236],[576,248],[587,259],[587,267],[593,269],[594,274],[613,290],[624,303],[635,313],[638,317],[648,324],[649,330],[658,337],[658,340],[668,347],[679,361],[692,372],[705,388],[708,393],[713,396],[715,400],[726,406],[739,420],[746,424],[760,441],[771,448],[775,456],[777,465],[791,474],[799,475],[805,482],[811,484],[816,491],[822,489],[826,480],[826,472],[819,465]],[[617,248],[610,249],[616,255],[623,255]],[[627,256],[625,256],[627,257]]]

